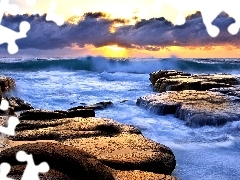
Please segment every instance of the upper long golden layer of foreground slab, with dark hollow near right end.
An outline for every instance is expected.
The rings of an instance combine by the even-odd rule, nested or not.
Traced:
[[[123,132],[141,134],[130,125],[105,118],[65,118],[21,121],[13,140],[65,140],[83,137],[114,136]]]

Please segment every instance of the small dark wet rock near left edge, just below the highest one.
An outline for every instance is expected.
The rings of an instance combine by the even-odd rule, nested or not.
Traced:
[[[9,102],[9,105],[14,108],[15,112],[34,109],[31,104],[18,97],[6,97],[6,100]]]

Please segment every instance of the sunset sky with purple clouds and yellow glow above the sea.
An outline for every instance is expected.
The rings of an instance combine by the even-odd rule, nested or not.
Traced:
[[[16,41],[17,54],[9,55],[7,45],[0,45],[2,57],[240,57],[240,34],[229,34],[227,28],[234,19],[226,13],[212,22],[220,28],[220,34],[213,38],[197,9],[185,9],[186,23],[177,25],[183,4],[170,6],[159,0],[57,0],[54,13],[65,20],[58,26],[46,21],[50,0],[36,0],[33,6],[26,1],[10,0],[20,12],[4,16],[1,25],[19,31],[20,22],[28,21],[31,29],[26,38]]]

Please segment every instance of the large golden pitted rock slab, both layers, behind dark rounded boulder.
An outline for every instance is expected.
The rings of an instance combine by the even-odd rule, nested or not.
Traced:
[[[87,152],[115,170],[170,175],[176,165],[168,147],[145,138],[136,127],[112,119],[24,120],[16,131],[11,137],[14,141],[55,140]]]

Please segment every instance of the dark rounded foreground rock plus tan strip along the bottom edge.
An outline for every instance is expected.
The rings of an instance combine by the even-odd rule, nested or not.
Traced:
[[[11,164],[8,177],[14,179],[20,179],[26,167],[25,164],[16,160],[15,155],[18,151],[32,154],[35,164],[43,161],[49,164],[50,170],[47,173],[39,174],[41,180],[177,180],[170,175],[140,170],[115,170],[87,152],[59,143],[46,142],[19,145],[1,152],[0,161]]]

